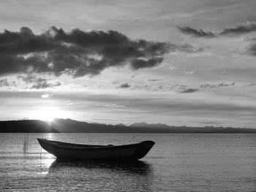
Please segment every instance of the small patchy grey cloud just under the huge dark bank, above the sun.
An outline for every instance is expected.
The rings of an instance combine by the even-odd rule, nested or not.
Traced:
[[[23,80],[27,84],[33,84],[30,88],[31,89],[44,89],[44,88],[56,88],[61,85],[61,82],[49,82],[48,80],[36,77],[35,75],[28,74],[26,76],[19,75],[19,79]]]

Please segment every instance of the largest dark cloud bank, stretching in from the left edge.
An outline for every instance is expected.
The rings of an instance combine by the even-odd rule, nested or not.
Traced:
[[[0,75],[48,72],[59,76],[96,75],[110,66],[129,65],[132,69],[161,64],[166,53],[197,52],[191,45],[132,40],[118,31],[66,32],[51,27],[42,34],[30,28],[0,33]]]

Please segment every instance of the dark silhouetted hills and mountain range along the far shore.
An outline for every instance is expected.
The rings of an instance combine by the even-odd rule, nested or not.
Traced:
[[[256,134],[254,128],[167,126],[163,123],[133,123],[125,126],[86,123],[72,119],[0,121],[1,133],[177,133],[177,134]]]

